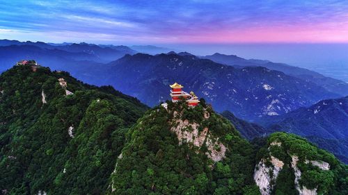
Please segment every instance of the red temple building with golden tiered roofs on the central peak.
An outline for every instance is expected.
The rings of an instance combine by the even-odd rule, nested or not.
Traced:
[[[187,93],[182,91],[182,87],[184,86],[178,83],[174,83],[173,85],[169,85],[169,86],[172,88],[171,97],[173,102],[186,100],[188,105],[190,106],[196,106],[200,102],[198,100],[198,97],[193,92]]]

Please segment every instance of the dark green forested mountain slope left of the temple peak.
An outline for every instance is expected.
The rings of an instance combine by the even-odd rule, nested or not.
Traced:
[[[127,129],[147,109],[45,67],[9,69],[0,92],[3,194],[102,194]]]

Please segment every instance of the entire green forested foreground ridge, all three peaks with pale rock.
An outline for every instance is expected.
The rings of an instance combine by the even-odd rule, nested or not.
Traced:
[[[166,103],[15,65],[0,76],[1,194],[347,194],[347,165],[306,139],[252,144],[203,99]]]

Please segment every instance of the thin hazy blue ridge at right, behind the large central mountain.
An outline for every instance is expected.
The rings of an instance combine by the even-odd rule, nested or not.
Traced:
[[[283,63],[274,63],[268,60],[246,60],[235,55],[224,55],[221,53],[214,53],[212,56],[202,56],[201,58],[213,60],[225,65],[232,65],[236,67],[267,67],[267,69],[283,71],[285,74],[308,80],[317,85],[324,87],[329,92],[334,92],[342,96],[348,95],[348,83],[335,78],[323,76],[315,71],[308,69],[293,67]]]

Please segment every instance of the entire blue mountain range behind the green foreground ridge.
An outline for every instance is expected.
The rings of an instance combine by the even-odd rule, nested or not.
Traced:
[[[347,162],[347,135],[335,134],[347,126],[343,120],[347,114],[338,106],[331,108],[325,119],[320,120],[317,120],[318,115],[313,118],[306,112],[318,106],[316,103],[322,99],[329,101],[347,96],[347,83],[267,60],[246,60],[219,53],[193,56],[174,51],[148,55],[137,53],[136,48],[142,51],[161,49],[0,40],[0,71],[18,60],[35,59],[52,69],[69,71],[87,83],[113,85],[150,106],[170,99],[168,85],[179,82],[184,90],[196,92],[218,112],[228,110],[223,115],[226,114],[224,116],[247,139],[269,135],[275,130],[292,132],[307,137]],[[342,120],[337,120],[341,117]],[[303,125],[305,121],[311,125]]]

